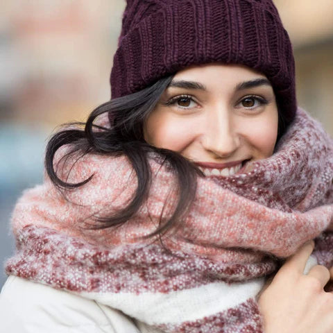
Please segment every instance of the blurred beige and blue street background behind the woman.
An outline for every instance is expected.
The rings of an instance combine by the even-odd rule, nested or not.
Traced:
[[[275,0],[296,58],[298,103],[333,134],[333,1]],[[110,100],[125,0],[3,0],[0,17],[0,287],[10,214],[42,182],[47,139]]]

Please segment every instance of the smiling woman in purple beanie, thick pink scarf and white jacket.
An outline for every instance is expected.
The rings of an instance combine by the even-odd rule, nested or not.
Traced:
[[[111,86],[15,207],[4,328],[331,332],[333,144],[273,3],[128,1]]]

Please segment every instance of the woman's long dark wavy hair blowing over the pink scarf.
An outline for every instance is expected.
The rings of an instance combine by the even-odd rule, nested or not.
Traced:
[[[161,236],[171,228],[176,230],[189,212],[196,195],[196,177],[204,176],[202,171],[179,153],[169,149],[156,148],[146,143],[143,133],[146,117],[155,108],[164,89],[171,83],[173,75],[161,78],[155,84],[139,92],[103,103],[89,114],[86,123],[67,123],[65,128],[62,128],[49,139],[46,146],[45,168],[49,178],[58,189],[80,187],[89,182],[93,176],[77,184],[70,184],[58,178],[53,166],[53,158],[58,148],[65,144],[70,144],[71,150],[62,158],[67,159],[74,153],[80,153],[80,157],[87,153],[110,156],[126,155],[133,165],[137,176],[137,189],[132,201],[117,214],[96,219],[97,224],[92,229],[121,225],[139,210],[146,200],[151,186],[151,170],[148,163],[148,153],[151,152],[162,157],[162,164],[167,162],[171,170],[176,173],[178,178],[178,203],[174,207],[169,221],[163,221],[162,213],[157,229],[147,237],[153,237],[157,234]],[[110,127],[108,128],[94,124],[95,119],[101,114],[105,114],[105,112],[108,113],[110,119]],[[279,139],[286,126],[282,112],[279,110],[278,113]]]

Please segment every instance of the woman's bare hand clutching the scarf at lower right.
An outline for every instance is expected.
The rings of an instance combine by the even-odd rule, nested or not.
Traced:
[[[316,265],[303,274],[313,249],[314,241],[301,246],[259,295],[265,333],[333,332],[333,293],[323,289],[330,271]]]

